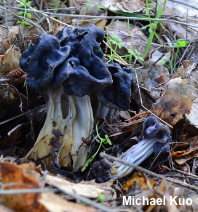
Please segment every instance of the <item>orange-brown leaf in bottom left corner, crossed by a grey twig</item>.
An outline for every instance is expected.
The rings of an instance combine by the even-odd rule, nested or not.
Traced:
[[[3,188],[33,189],[41,188],[39,173],[35,171],[33,163],[16,165],[15,163],[1,163],[1,177]],[[38,202],[39,193],[3,195],[2,204],[16,212],[47,212],[45,207]]]

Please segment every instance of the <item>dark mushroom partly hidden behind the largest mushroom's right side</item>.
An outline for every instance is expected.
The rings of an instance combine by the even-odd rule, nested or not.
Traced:
[[[93,104],[94,117],[108,117],[109,122],[118,118],[119,110],[127,110],[134,84],[134,69],[121,67],[118,63],[109,62],[107,68],[112,75],[113,83],[104,91],[96,93],[98,104]]]

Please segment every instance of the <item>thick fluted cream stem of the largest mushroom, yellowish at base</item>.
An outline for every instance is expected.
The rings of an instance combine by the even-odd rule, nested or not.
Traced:
[[[58,152],[57,165],[68,168],[73,166],[73,169],[77,169],[84,165],[89,152],[89,147],[81,139],[87,138],[93,130],[94,119],[90,97],[66,95],[62,85],[56,88],[49,87],[45,96],[47,117],[36,143],[43,137],[44,139],[34,149],[32,158],[36,160],[52,151],[49,143],[54,137],[52,130],[56,129],[63,134],[60,138],[61,148]],[[51,158],[46,158],[44,162],[49,169]]]

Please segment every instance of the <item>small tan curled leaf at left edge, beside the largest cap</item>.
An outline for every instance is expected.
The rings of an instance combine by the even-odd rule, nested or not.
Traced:
[[[19,59],[21,52],[18,47],[12,45],[5,55],[0,55],[0,73],[8,73],[13,69],[19,69]]]

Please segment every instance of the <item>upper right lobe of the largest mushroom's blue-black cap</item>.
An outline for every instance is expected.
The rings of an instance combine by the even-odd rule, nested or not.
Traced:
[[[104,32],[95,25],[90,24],[85,28],[77,27],[74,30],[64,28],[57,34],[62,46],[71,47],[71,55],[78,58],[80,65],[84,66],[91,76],[97,79],[104,79],[109,71],[103,62],[103,52],[100,50],[100,42],[104,39]],[[109,76],[107,81],[111,81]],[[106,83],[104,88],[106,88]]]

